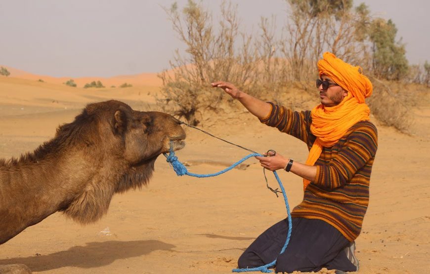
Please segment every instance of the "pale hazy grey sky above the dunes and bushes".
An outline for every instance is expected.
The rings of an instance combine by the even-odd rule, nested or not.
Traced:
[[[198,0],[197,0],[198,1]],[[173,0],[0,0],[0,64],[34,74],[109,77],[169,68],[183,49],[162,6]],[[182,8],[187,0],[177,0]],[[241,25],[257,31],[261,16],[284,25],[285,0],[231,0]],[[354,0],[391,18],[410,63],[430,61],[429,0]],[[219,12],[220,0],[203,0]]]

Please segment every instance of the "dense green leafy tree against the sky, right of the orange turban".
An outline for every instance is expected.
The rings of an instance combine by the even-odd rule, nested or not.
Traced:
[[[408,73],[405,45],[396,41],[397,28],[390,20],[376,18],[369,29],[372,42],[372,68],[375,76],[399,80]]]

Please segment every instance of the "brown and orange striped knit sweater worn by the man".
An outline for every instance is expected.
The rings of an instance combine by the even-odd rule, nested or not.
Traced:
[[[310,111],[293,112],[270,103],[268,117],[260,119],[312,147]],[[378,148],[377,130],[370,121],[359,121],[315,162],[315,179],[306,188],[303,201],[292,217],[323,220],[338,229],[349,241],[360,234],[369,203],[369,183]]]

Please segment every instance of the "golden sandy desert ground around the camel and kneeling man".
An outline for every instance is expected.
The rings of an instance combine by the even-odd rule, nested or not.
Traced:
[[[35,79],[0,77],[0,158],[19,157],[53,137],[89,102],[117,99],[153,109],[157,88],[82,89]],[[360,273],[430,273],[430,105],[413,111],[416,134],[379,125],[371,200],[356,240]],[[246,113],[207,120],[203,128],[258,152],[274,149],[304,161],[305,145],[259,124]],[[238,117],[240,119],[238,119]],[[195,129],[177,152],[194,173],[213,173],[248,155]],[[148,187],[114,196],[108,214],[81,226],[60,213],[0,246],[1,264],[26,264],[35,273],[230,273],[240,254],[266,228],[286,217],[282,197],[266,189],[255,159],[245,170],[215,178],[177,177],[157,159]],[[293,208],[301,179],[280,172]],[[269,184],[276,180],[268,173]],[[37,199],[37,197],[35,197]]]

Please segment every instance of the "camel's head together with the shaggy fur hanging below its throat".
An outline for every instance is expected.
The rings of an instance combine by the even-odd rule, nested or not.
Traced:
[[[74,194],[62,210],[80,223],[94,222],[114,193],[146,185],[156,158],[171,146],[184,147],[180,124],[166,113],[135,111],[119,101],[87,105],[72,123],[57,129],[53,142],[62,147],[57,151],[66,155],[67,165],[83,166],[79,173],[86,176],[85,185],[70,184]]]

